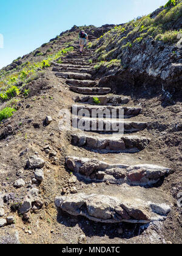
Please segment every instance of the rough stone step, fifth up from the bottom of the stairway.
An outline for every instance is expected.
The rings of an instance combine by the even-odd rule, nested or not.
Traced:
[[[85,116],[88,118],[131,118],[141,113],[141,107],[116,107],[112,105],[90,106],[72,105],[73,115]]]

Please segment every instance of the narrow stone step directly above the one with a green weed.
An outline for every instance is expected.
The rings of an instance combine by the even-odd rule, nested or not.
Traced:
[[[111,91],[111,88],[104,88],[104,87],[74,87],[70,86],[70,90],[74,91],[75,93],[81,93],[81,94],[108,94]]]

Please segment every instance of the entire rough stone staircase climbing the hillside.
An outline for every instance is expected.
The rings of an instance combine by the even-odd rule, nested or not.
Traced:
[[[112,94],[110,88],[101,87],[93,79],[93,66],[88,62],[91,54],[88,50],[84,55],[75,51],[62,59],[61,64],[52,63],[55,75],[66,79],[70,91],[75,93],[71,147],[83,149],[81,153],[68,149],[66,166],[87,185],[78,194],[56,197],[55,205],[70,215],[96,222],[164,221],[170,212],[171,199],[155,184],[170,169],[140,163],[135,157],[136,152],[150,143],[150,138],[142,134],[147,133],[142,108],[126,105],[129,98]],[[115,116],[110,119],[112,111]],[[101,118],[99,113],[103,112]],[[112,129],[113,124],[123,126],[123,133]]]

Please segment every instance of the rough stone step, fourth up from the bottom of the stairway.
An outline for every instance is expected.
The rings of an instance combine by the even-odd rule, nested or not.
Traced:
[[[107,118],[86,118],[80,116],[73,116],[72,118],[73,128],[90,132],[117,132],[132,133],[144,130],[147,127],[147,123],[135,122],[135,121],[118,121],[116,119]]]

